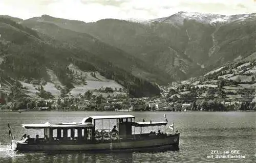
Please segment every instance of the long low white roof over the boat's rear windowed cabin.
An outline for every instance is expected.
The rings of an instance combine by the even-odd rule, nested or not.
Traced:
[[[92,123],[41,123],[41,124],[23,124],[22,127],[29,129],[43,129],[43,128],[79,128],[79,127],[92,127]]]

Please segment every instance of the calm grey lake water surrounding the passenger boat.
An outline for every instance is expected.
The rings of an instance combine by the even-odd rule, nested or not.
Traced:
[[[136,121],[163,121],[179,130],[180,150],[122,153],[19,153],[13,158],[4,151],[10,144],[7,124],[15,138],[34,137],[40,130],[20,127],[27,123],[80,122],[86,116],[132,114]],[[0,162],[256,162],[255,112],[23,112],[0,113]],[[157,129],[157,128],[155,128]],[[148,129],[148,130],[151,130]],[[41,133],[39,133],[41,134]],[[245,158],[207,158],[211,150],[239,150]],[[223,154],[222,154],[223,155]],[[230,154],[235,155],[235,154]]]

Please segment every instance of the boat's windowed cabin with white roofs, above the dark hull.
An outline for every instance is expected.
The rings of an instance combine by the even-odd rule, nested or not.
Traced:
[[[49,142],[104,142],[140,139],[143,135],[142,129],[139,134],[135,134],[135,127],[165,126],[166,124],[166,121],[135,122],[133,115],[115,115],[89,116],[78,123],[47,122],[44,124],[23,124],[22,127],[44,129],[44,135],[47,135]],[[114,126],[116,126],[115,131],[113,131]],[[30,142],[33,140],[31,139]]]

